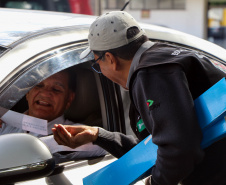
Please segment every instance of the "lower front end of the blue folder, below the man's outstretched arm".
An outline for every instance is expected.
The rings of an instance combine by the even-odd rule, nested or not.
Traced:
[[[157,145],[152,143],[152,137],[148,136],[117,161],[85,177],[83,184],[131,184],[155,164],[157,149]]]

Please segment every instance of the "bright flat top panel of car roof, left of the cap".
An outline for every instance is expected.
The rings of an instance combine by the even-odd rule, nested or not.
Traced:
[[[0,8],[0,45],[14,47],[28,37],[79,26],[87,29],[95,17],[72,13]]]

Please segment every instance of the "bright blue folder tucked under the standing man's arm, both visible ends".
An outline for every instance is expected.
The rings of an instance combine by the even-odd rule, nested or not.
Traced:
[[[226,136],[225,78],[199,96],[194,104],[203,133],[201,147],[206,148]],[[151,168],[157,159],[157,150],[158,146],[152,142],[150,135],[118,160],[85,177],[83,184],[133,184],[151,174]]]

